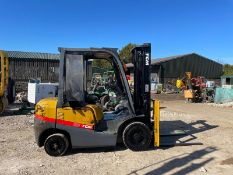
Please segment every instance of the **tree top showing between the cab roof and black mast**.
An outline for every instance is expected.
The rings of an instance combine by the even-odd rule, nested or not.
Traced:
[[[129,43],[126,46],[122,47],[121,50],[119,50],[119,56],[123,63],[131,63],[131,50],[136,46],[136,44]]]

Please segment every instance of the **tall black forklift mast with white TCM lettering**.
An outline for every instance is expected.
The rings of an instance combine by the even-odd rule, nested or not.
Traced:
[[[134,64],[134,109],[136,115],[145,115],[150,121],[150,65],[151,44],[146,43],[132,49],[132,62]]]

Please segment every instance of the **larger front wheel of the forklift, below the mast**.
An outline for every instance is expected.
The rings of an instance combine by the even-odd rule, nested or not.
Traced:
[[[123,131],[123,142],[130,150],[146,150],[151,143],[150,129],[142,122],[133,122]]]

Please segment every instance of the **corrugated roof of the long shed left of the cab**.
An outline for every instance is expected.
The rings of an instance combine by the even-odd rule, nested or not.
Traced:
[[[6,52],[9,58],[60,60],[60,54],[40,53],[40,52],[21,52],[21,51],[6,51]]]

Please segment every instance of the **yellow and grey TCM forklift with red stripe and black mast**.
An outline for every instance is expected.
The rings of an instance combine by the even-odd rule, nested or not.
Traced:
[[[113,147],[123,142],[130,150],[143,151],[153,139],[158,145],[159,120],[154,122],[153,116],[159,116],[159,103],[154,103],[154,110],[151,108],[149,43],[132,49],[133,93],[117,49],[59,51],[58,97],[42,99],[35,106],[34,132],[39,147],[44,146],[50,156],[62,156],[68,148]],[[104,111],[101,99],[89,93],[88,77],[95,59],[108,60],[114,70],[112,91],[120,98],[114,110]]]

